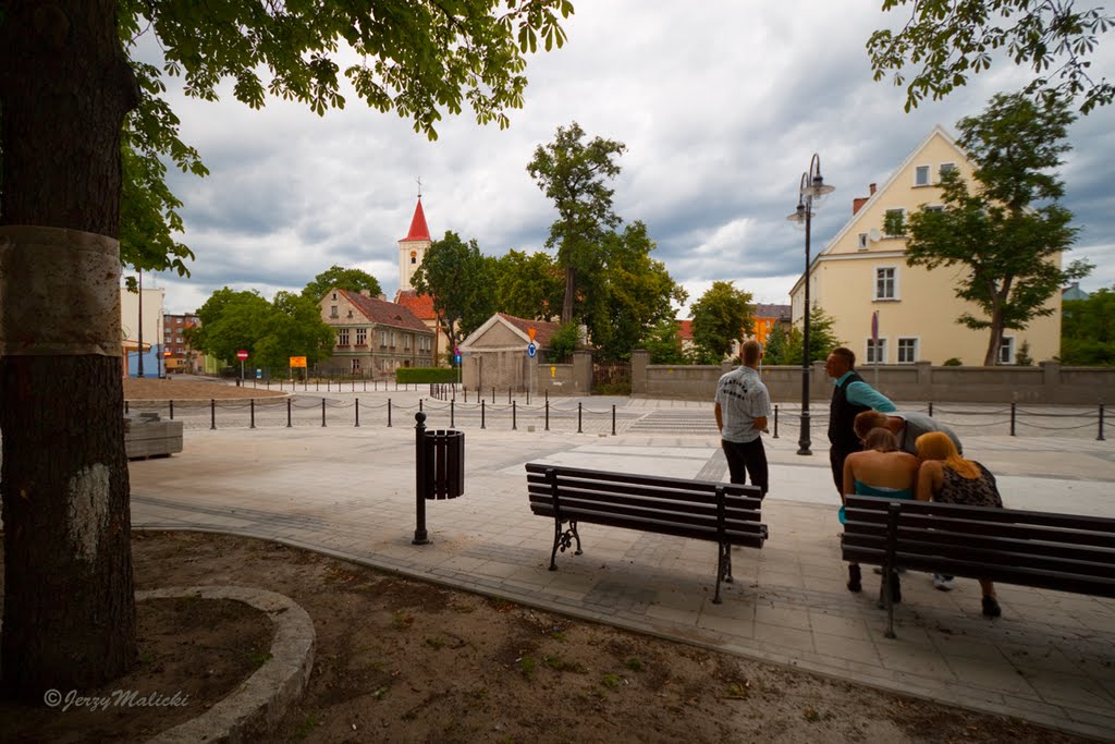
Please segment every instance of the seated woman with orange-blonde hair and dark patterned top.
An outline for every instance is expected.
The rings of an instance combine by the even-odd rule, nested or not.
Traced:
[[[999,486],[991,472],[975,460],[966,460],[957,452],[946,434],[931,432],[918,437],[918,500],[944,504],[1002,508]],[[983,590],[983,615],[997,618],[1002,615],[995,596],[995,584],[979,579]]]

